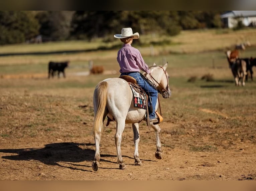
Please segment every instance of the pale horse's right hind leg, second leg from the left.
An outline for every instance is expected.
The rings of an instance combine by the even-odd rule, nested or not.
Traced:
[[[115,144],[116,144],[116,152],[117,152],[117,162],[119,164],[120,169],[124,169],[126,164],[123,162],[122,153],[121,153],[121,141],[122,141],[122,133],[125,127],[125,119],[116,120],[116,134],[115,134]]]

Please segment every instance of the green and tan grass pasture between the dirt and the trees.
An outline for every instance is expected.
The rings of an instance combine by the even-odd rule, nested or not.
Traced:
[[[253,35],[254,34],[254,35]],[[170,100],[163,100],[164,105],[170,112],[164,113],[164,117],[171,117],[173,109],[176,108],[184,115],[193,116],[195,109],[197,118],[202,118],[206,112],[200,110],[201,107],[207,108],[213,112],[210,114],[220,116],[246,116],[250,113],[255,116],[254,105],[256,100],[253,96],[256,93],[255,82],[246,83],[245,87],[235,87],[232,73],[228,67],[228,62],[224,53],[224,47],[231,47],[236,41],[245,37],[250,37],[252,47],[249,47],[241,53],[242,57],[256,57],[256,30],[243,31],[185,31],[176,37],[171,37],[171,41],[176,45],[156,46],[155,50],[159,53],[151,55],[149,47],[137,47],[141,50],[145,62],[151,66],[153,63],[161,65],[168,62],[167,71],[170,75],[170,87],[172,90],[172,104]],[[144,41],[149,38],[148,36]],[[167,38],[167,37],[165,37]],[[170,38],[170,37],[169,37]],[[225,40],[223,40],[225,38]],[[161,40],[159,40],[161,41]],[[212,42],[212,43],[210,43]],[[218,45],[219,43],[219,45]],[[106,45],[106,44],[105,44]],[[208,47],[207,47],[208,45]],[[1,53],[23,53],[43,52],[43,51],[62,51],[62,50],[88,50],[104,46],[104,43],[93,42],[61,42],[46,43],[42,45],[10,45],[2,46]],[[106,45],[107,46],[107,45]],[[120,45],[121,46],[121,45]],[[23,48],[24,47],[24,48]],[[195,47],[195,49],[182,53],[179,49]],[[170,50],[175,54],[169,54],[166,51],[161,54],[161,49]],[[116,62],[117,50],[92,51],[73,54],[46,54],[46,55],[18,55],[4,56],[0,61],[0,76],[2,79],[1,92],[10,91],[23,94],[23,92],[73,92],[73,90],[91,89],[89,94],[78,95],[80,99],[92,101],[93,88],[96,84],[109,77],[118,77],[119,66]],[[67,79],[47,80],[47,63],[50,60],[61,61],[71,60],[70,68],[66,70]],[[81,72],[88,72],[88,63],[92,60],[95,65],[101,65],[106,71],[116,72],[106,75],[76,76]],[[256,73],[256,69],[253,69]],[[207,82],[201,78],[205,75],[211,75],[212,81]],[[188,82],[193,78],[193,82]],[[243,103],[243,100],[250,100]],[[236,104],[239,102],[239,104]],[[175,103],[175,104],[174,104]],[[244,104],[242,106],[242,104]],[[241,108],[242,106],[242,108]],[[246,109],[243,107],[246,107]],[[241,109],[239,109],[241,108]],[[250,110],[251,109],[251,110]],[[240,112],[237,112],[240,110]],[[223,114],[220,114],[223,113]],[[209,113],[207,113],[209,114]],[[181,115],[181,114],[180,114]],[[182,114],[183,115],[183,114]],[[184,117],[184,116],[183,116]],[[218,115],[216,116],[218,117]]]

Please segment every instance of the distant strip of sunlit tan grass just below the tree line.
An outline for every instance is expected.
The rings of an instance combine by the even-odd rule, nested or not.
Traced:
[[[256,45],[256,30],[246,29],[241,31],[232,30],[194,30],[182,31],[181,34],[168,37],[168,36],[141,36],[140,41],[170,41],[170,45],[156,45],[154,46],[154,56],[168,55],[169,53],[200,53],[221,50],[225,51],[227,48],[235,48],[235,44],[249,40],[252,46]],[[86,50],[97,49],[100,47],[121,47],[121,42],[114,41],[112,43],[101,42],[100,39],[95,42],[84,41],[70,41],[70,42],[57,42],[45,43],[40,45],[24,44],[24,45],[6,45],[0,47],[1,54],[5,53],[26,53],[26,52],[54,52],[63,51],[61,54],[53,55],[27,55],[27,56],[6,56],[0,60],[1,65],[19,65],[19,64],[42,64],[50,60],[63,61],[70,60],[71,62],[88,62],[90,60],[107,60],[116,58],[116,50],[105,51],[90,51]],[[119,46],[120,45],[120,46]],[[139,47],[138,48],[143,56],[152,55],[152,47]],[[81,51],[75,54],[67,54],[65,51]]]

